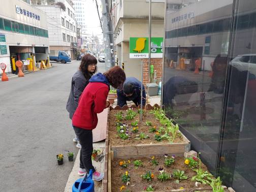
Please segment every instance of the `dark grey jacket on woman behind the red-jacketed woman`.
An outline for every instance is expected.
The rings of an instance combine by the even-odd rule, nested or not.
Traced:
[[[70,95],[67,103],[67,111],[69,112],[70,119],[72,119],[76,108],[78,106],[79,98],[86,87],[86,85],[89,83],[89,79],[86,79],[83,75],[83,73],[78,70],[72,77],[71,82],[71,90]]]

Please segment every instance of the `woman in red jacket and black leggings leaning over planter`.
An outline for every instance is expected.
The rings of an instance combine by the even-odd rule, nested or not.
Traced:
[[[109,107],[107,101],[109,86],[120,88],[124,81],[125,73],[121,68],[115,66],[104,74],[98,73],[92,76],[79,99],[78,107],[72,118],[74,130],[82,146],[79,175],[84,175],[92,169],[93,180],[100,181],[104,177],[103,173],[95,171],[92,166],[92,130],[98,123],[97,113],[101,113]]]

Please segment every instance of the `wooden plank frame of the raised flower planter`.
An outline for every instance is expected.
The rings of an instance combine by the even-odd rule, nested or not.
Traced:
[[[148,105],[147,110],[151,110],[155,106]],[[127,110],[129,108],[137,108],[136,106],[123,106],[122,108],[117,106],[115,108],[110,107],[110,110]],[[108,112],[108,116],[109,116]],[[137,145],[110,145],[109,144],[109,118],[107,123],[106,134],[106,155],[105,155],[105,178],[103,180],[104,191],[111,191],[111,159],[114,158],[126,158],[126,157],[145,157],[152,155],[163,155],[165,153],[175,154],[177,156],[183,156],[184,152],[190,150],[189,140],[182,134],[183,141],[181,143],[154,143],[154,144],[137,144]]]

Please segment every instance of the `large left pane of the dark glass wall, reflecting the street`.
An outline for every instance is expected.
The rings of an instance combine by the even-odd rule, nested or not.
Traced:
[[[173,1],[167,0],[167,4]],[[184,2],[184,1],[183,1]],[[215,173],[233,1],[166,11],[163,105]]]

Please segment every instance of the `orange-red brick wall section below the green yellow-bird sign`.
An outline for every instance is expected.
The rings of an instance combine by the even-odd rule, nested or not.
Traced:
[[[148,74],[148,59],[143,60],[143,84],[149,82],[150,74]],[[162,78],[162,65],[163,65],[163,58],[151,58],[151,65],[154,66],[154,70],[156,71],[156,79]]]

